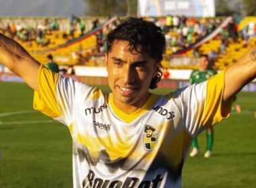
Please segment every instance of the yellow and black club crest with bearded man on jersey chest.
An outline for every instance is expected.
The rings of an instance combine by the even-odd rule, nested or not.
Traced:
[[[143,134],[143,144],[145,150],[155,150],[158,145],[157,134],[155,133],[156,129],[150,125],[145,125]]]

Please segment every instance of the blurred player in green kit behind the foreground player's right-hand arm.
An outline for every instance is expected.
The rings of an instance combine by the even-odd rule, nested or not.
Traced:
[[[192,71],[192,73],[190,75],[189,82],[191,84],[201,83],[203,81],[206,81],[213,75],[217,74],[217,72],[214,69],[209,68],[209,59],[206,54],[201,54],[199,56],[198,65],[199,65],[199,68],[197,70]],[[207,142],[206,152],[205,152],[204,156],[205,156],[205,158],[208,158],[212,154],[212,145],[214,143],[214,130],[213,130],[212,126],[207,128],[207,130],[206,130],[206,142]],[[199,154],[199,144],[197,142],[197,137],[195,137],[193,139],[192,147],[193,147],[193,149],[190,153],[190,156],[193,157],[193,156],[196,156],[197,154]]]

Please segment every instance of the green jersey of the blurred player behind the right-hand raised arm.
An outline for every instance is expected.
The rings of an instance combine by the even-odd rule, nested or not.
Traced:
[[[206,81],[207,79],[209,79],[210,77],[212,77],[213,75],[216,75],[217,72],[213,69],[206,69],[205,71],[201,72],[199,70],[194,70],[191,75],[190,75],[190,79],[189,82],[191,84],[193,83],[201,83],[203,81]]]

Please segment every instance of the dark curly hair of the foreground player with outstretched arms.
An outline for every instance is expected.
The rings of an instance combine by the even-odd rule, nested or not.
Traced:
[[[151,21],[145,21],[141,18],[127,17],[123,23],[119,24],[117,28],[110,31],[106,37],[107,52],[110,52],[114,40],[129,41],[129,50],[132,52],[146,52],[151,58],[157,62],[162,60],[162,54],[165,50],[165,38],[161,32],[160,27],[156,26]],[[142,51],[138,47],[142,46]],[[155,89],[157,83],[162,77],[161,64],[158,68],[158,74],[150,83],[150,89]]]

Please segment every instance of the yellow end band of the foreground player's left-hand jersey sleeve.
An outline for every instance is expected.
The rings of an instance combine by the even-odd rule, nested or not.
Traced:
[[[59,75],[53,73],[45,66],[40,66],[39,71],[39,92],[34,92],[34,109],[50,116],[57,118],[61,115],[61,111],[57,107],[56,85]]]

